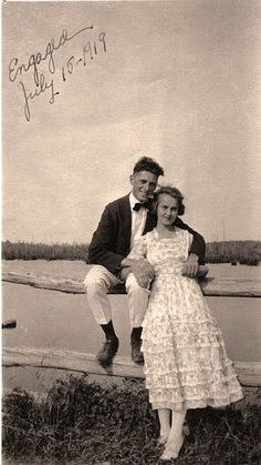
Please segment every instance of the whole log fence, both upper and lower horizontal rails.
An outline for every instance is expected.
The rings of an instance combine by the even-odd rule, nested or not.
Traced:
[[[69,294],[85,293],[83,283],[80,280],[63,276],[3,271],[2,281]],[[261,279],[207,277],[200,282],[200,285],[202,293],[206,296],[261,297]],[[125,293],[126,291],[123,284],[109,290],[109,294]],[[119,355],[114,357],[114,362],[111,366],[104,368],[96,362],[94,354],[52,348],[3,347],[2,364],[3,366],[49,367],[102,375],[144,378],[142,366],[134,364],[129,357]],[[261,362],[234,362],[234,368],[242,385],[261,386]]]

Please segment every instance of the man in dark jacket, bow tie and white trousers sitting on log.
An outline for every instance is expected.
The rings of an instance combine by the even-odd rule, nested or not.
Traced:
[[[132,192],[105,206],[88,249],[88,260],[94,266],[86,275],[84,284],[88,304],[106,337],[97,354],[97,361],[103,366],[112,363],[118,350],[107,291],[121,281],[125,281],[128,294],[132,358],[135,363],[143,363],[142,322],[148,304],[147,283],[152,281],[154,270],[146,260],[129,261],[126,256],[134,241],[157,224],[156,213],[150,211],[150,206],[160,175],[164,175],[164,170],[156,161],[148,156],[138,160],[129,178]],[[194,235],[190,254],[184,266],[184,274],[194,277],[198,265],[203,263],[203,237],[179,218],[175,225]]]

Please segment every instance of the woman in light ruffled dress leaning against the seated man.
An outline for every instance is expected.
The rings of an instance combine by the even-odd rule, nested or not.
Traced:
[[[157,226],[135,243],[128,259],[153,265],[148,309],[143,323],[144,371],[149,401],[158,411],[163,461],[177,458],[188,408],[220,407],[242,398],[220,330],[197,280],[182,276],[192,236],[174,226],[184,214],[181,193],[157,193]],[[199,266],[199,274],[207,274]]]

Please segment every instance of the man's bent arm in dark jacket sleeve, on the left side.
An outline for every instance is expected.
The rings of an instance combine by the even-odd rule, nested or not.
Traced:
[[[90,263],[103,265],[111,273],[116,273],[121,266],[121,262],[125,259],[123,255],[114,252],[116,249],[116,220],[107,205],[88,247]]]

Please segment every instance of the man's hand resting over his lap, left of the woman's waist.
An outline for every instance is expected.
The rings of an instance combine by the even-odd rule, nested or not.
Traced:
[[[127,262],[126,262],[127,260]],[[122,262],[123,265],[127,265],[124,267],[121,272],[121,277],[123,280],[126,280],[127,275],[129,273],[133,273],[134,276],[137,280],[137,283],[142,287],[147,287],[147,285],[153,281],[154,279],[154,267],[152,263],[149,263],[147,260],[130,260],[125,259]]]

